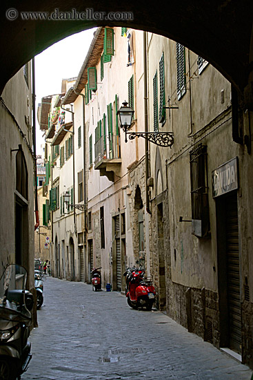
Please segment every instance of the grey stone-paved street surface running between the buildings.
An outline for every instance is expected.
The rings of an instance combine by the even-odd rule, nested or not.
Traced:
[[[44,295],[22,380],[250,380],[245,365],[117,292],[47,277]]]

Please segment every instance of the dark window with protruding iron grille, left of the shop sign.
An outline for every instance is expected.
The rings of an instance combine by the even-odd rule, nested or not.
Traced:
[[[203,237],[209,230],[207,146],[190,151],[192,233]]]

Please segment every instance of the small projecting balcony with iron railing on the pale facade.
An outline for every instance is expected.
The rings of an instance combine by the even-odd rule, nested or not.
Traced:
[[[114,182],[114,176],[120,176],[121,144],[118,135],[102,136],[95,143],[95,170]]]

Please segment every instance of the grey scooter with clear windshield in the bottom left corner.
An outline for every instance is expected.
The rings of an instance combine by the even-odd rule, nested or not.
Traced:
[[[20,379],[32,359],[28,341],[34,299],[26,290],[26,269],[8,265],[0,279],[0,379]]]

